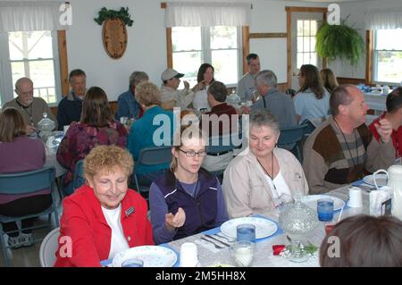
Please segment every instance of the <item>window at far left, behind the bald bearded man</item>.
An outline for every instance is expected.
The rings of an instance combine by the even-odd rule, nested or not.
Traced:
[[[1,102],[12,100],[15,82],[29,77],[34,82],[34,96],[56,105],[61,94],[56,32],[30,31],[0,34],[0,59],[4,63],[0,78]]]

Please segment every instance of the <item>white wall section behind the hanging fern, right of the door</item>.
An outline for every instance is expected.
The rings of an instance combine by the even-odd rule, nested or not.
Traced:
[[[349,14],[348,24],[354,25],[353,27],[359,29],[360,34],[365,42],[365,29],[364,29],[364,13],[370,9],[376,8],[394,8],[402,7],[400,0],[381,0],[381,1],[368,1],[358,3],[339,4],[340,17],[346,18]],[[365,55],[356,67],[351,66],[350,63],[345,61],[335,61],[330,63],[329,67],[335,72],[338,77],[364,79],[365,78]]]

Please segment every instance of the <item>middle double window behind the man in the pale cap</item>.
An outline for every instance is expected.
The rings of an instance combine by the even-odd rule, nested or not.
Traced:
[[[197,83],[202,63],[214,66],[214,78],[226,85],[236,85],[241,67],[241,36],[237,27],[172,28],[173,69],[185,73],[190,86]]]

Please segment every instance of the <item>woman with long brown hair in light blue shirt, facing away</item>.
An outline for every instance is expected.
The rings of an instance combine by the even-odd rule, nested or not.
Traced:
[[[293,99],[297,122],[301,125],[325,120],[330,111],[330,94],[322,87],[317,68],[312,64],[302,65],[298,81],[300,89]]]

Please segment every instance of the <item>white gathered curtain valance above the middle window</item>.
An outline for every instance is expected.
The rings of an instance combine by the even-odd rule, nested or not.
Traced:
[[[165,27],[249,26],[250,3],[167,3]]]

